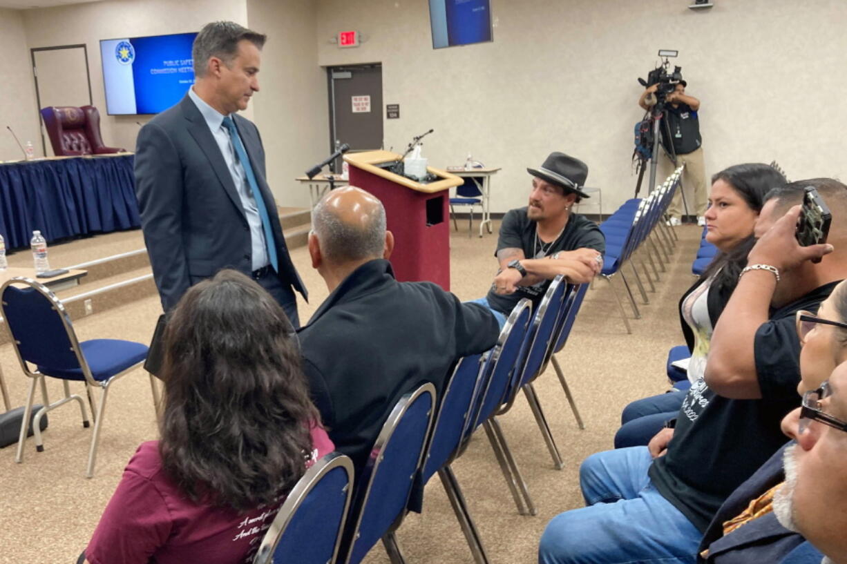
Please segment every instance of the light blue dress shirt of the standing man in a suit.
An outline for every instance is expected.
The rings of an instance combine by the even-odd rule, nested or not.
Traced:
[[[212,132],[215,142],[218,143],[220,152],[224,156],[226,169],[230,171],[232,181],[235,183],[235,191],[238,192],[238,197],[241,199],[241,208],[244,210],[244,215],[247,218],[247,225],[250,226],[252,268],[253,270],[258,270],[259,268],[268,266],[270,261],[268,259],[268,249],[265,246],[262,218],[259,217],[256,200],[253,199],[250,185],[247,184],[244,167],[241,166],[241,163],[235,156],[235,148],[232,147],[230,133],[224,128],[224,114],[209,106],[208,103],[203,102],[202,98],[197,96],[194,88],[188,89],[188,96],[191,97],[191,101],[194,102],[194,105],[202,113],[203,119],[206,120],[206,124]]]

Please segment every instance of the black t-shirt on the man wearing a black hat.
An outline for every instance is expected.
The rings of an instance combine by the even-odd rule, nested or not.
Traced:
[[[589,218],[579,213],[571,213],[562,235],[548,246],[535,236],[535,222],[527,217],[527,208],[518,207],[509,210],[503,216],[503,222],[500,225],[497,251],[509,248],[523,249],[523,256],[526,258],[550,257],[559,251],[574,251],[582,248],[605,252],[606,237],[603,236],[597,224]],[[496,254],[495,252],[495,256]],[[535,308],[544,297],[549,285],[550,280],[544,280],[534,286],[518,286],[518,291],[508,296],[495,294],[494,290],[489,290],[488,303],[505,315],[511,313],[518,301],[525,297],[532,300],[533,308]]]

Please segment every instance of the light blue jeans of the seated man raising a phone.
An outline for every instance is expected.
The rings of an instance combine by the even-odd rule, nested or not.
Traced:
[[[540,564],[692,564],[700,531],[650,484],[647,447],[599,452],[579,468],[587,507],[553,517]]]

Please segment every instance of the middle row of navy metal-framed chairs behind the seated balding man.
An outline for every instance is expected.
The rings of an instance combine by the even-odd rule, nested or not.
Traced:
[[[432,384],[403,395],[381,430],[362,477],[354,478],[349,459],[337,453],[310,468],[275,517],[254,564],[356,564],[380,539],[390,561],[399,564],[404,560],[396,530],[408,510],[422,510],[424,485],[436,473],[474,561],[487,564],[451,464],[467,449],[473,433],[484,428],[518,512],[536,514],[498,417],[506,415],[518,392],[523,392],[554,467],[563,467],[533,383],[552,363],[574,416],[584,427],[555,355],[567,342],[587,287],[557,277],[534,314],[530,301],[521,300],[490,351],[457,362],[440,401],[436,402]]]

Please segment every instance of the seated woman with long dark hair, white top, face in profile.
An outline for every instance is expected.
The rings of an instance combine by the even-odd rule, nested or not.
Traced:
[[[745,163],[711,177],[706,210],[706,241],[718,254],[679,301],[679,322],[691,352],[688,381],[694,384],[706,372],[711,332],[732,296],[747,253],[756,243],[753,228],[765,195],[786,183],[769,164]],[[662,425],[676,417],[686,390],[674,390],[630,403],[623,409],[615,448],[646,445]]]

